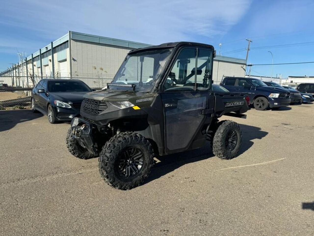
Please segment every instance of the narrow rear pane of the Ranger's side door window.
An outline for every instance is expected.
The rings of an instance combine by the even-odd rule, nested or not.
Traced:
[[[210,85],[212,74],[211,60],[212,51],[198,49],[196,86],[198,90],[207,90]]]

